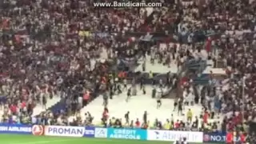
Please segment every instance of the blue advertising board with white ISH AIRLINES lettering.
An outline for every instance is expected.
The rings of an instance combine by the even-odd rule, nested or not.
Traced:
[[[32,126],[0,123],[0,134],[32,134]]]

